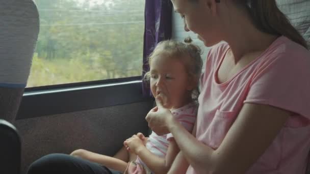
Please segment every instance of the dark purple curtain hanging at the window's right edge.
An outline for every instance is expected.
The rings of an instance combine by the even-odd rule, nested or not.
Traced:
[[[145,0],[143,72],[149,71],[148,55],[160,41],[171,38],[172,3],[170,0]],[[142,83],[143,96],[151,96],[149,85]]]

